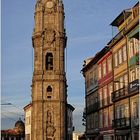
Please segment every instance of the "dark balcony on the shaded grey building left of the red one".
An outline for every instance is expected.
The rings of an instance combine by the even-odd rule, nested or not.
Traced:
[[[87,107],[86,114],[94,113],[99,109],[99,102],[94,103]]]

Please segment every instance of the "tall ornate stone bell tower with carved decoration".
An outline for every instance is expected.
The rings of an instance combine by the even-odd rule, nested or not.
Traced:
[[[32,35],[32,140],[66,140],[64,7],[62,0],[37,0]]]

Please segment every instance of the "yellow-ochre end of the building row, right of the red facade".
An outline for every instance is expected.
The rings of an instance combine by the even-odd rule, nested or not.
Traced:
[[[116,140],[138,139],[138,8],[139,3],[131,9],[124,10],[111,23],[112,26],[119,29],[119,33],[108,43],[113,54],[114,92],[112,101]],[[134,124],[133,118],[135,118],[136,124]]]

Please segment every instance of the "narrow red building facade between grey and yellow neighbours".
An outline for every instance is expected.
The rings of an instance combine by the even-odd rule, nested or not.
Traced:
[[[113,91],[112,53],[109,47],[103,48],[102,57],[98,64],[99,132],[103,139],[113,139],[112,129],[113,104],[111,93]]]

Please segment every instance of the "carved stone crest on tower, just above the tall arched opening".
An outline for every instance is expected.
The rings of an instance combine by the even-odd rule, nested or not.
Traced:
[[[51,45],[55,40],[55,31],[52,29],[47,29],[45,31],[45,44]]]

